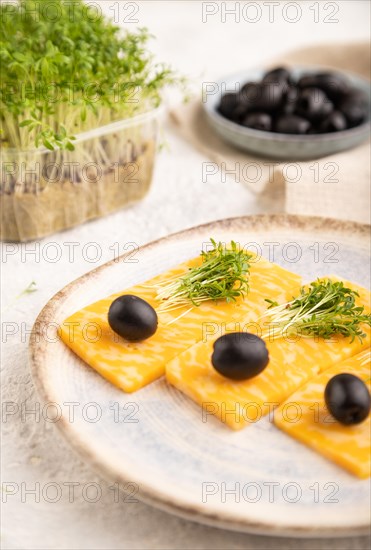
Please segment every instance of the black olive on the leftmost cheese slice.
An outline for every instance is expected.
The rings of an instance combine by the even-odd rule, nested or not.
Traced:
[[[111,329],[130,342],[140,342],[157,330],[157,313],[153,307],[132,294],[116,298],[108,311]]]

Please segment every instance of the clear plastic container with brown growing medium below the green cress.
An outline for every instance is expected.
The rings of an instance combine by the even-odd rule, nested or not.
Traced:
[[[78,134],[74,151],[1,152],[3,241],[28,241],[99,218],[149,190],[162,109]]]

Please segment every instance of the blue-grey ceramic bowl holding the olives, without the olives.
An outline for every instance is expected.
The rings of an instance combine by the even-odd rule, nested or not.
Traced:
[[[294,78],[297,79],[303,74],[324,72],[324,67],[308,66],[290,69]],[[334,69],[331,71],[336,72]],[[371,103],[370,83],[354,74],[339,71],[350,82],[350,84],[367,94],[369,105]],[[275,132],[263,132],[246,128],[227,120],[218,113],[217,107],[220,98],[225,91],[233,91],[236,84],[242,86],[246,82],[260,80],[265,69],[255,69],[238,73],[221,79],[217,84],[217,92],[209,94],[203,103],[204,110],[212,128],[228,143],[238,149],[249,151],[264,157],[305,160],[324,157],[351,149],[365,141],[370,135],[370,109],[368,119],[349,130],[318,135],[292,135],[279,134]]]

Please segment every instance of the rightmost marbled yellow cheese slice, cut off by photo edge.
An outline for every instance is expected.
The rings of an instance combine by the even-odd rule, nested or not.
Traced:
[[[370,387],[370,350],[334,365],[313,378],[283,403],[274,414],[275,424],[292,437],[361,478],[370,476],[370,415],[361,424],[343,426],[327,411],[324,391],[336,374],[350,373]]]

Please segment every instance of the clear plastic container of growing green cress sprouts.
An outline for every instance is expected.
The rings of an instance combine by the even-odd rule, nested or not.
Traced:
[[[51,8],[52,6],[52,8]],[[82,0],[0,4],[0,238],[29,240],[149,189],[164,89],[146,29]],[[45,9],[44,9],[45,8]]]

